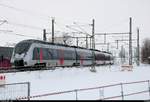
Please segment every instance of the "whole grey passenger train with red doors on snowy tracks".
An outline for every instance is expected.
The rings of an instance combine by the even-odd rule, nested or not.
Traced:
[[[94,59],[94,60],[93,60]],[[40,40],[19,42],[11,57],[14,66],[89,66],[113,64],[111,53]]]

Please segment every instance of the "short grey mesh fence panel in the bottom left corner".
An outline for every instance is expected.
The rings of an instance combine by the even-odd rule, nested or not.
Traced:
[[[30,96],[29,82],[0,85],[0,100],[16,100],[17,97],[29,97],[29,96]]]

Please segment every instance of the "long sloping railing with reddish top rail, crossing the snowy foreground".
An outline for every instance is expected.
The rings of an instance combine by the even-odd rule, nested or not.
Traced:
[[[93,91],[97,90],[97,91]],[[69,96],[63,96],[70,94]],[[57,96],[59,95],[59,96]],[[62,95],[62,97],[60,96]],[[52,97],[56,96],[56,97]],[[43,98],[42,98],[43,97]],[[47,98],[46,98],[47,97]],[[26,99],[46,99],[46,100],[149,100],[150,99],[150,80],[136,81],[128,83],[117,83],[112,85],[75,89],[46,93],[27,97],[18,97],[17,100]]]

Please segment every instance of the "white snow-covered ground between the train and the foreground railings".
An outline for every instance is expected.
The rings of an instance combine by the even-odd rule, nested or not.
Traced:
[[[134,65],[132,71],[121,71],[120,65],[98,66],[96,73],[91,72],[89,67],[61,68],[56,70],[7,73],[6,83],[31,83],[31,96],[46,93],[67,91],[81,88],[98,87],[116,83],[150,80],[150,65]],[[148,90],[147,83],[124,85],[124,93]],[[120,95],[120,86],[104,89],[95,89],[78,92],[78,99],[100,99],[102,97]],[[75,93],[31,98],[31,100],[75,100]],[[122,98],[114,98],[121,100]],[[145,100],[150,99],[149,93],[126,96],[124,99]]]

